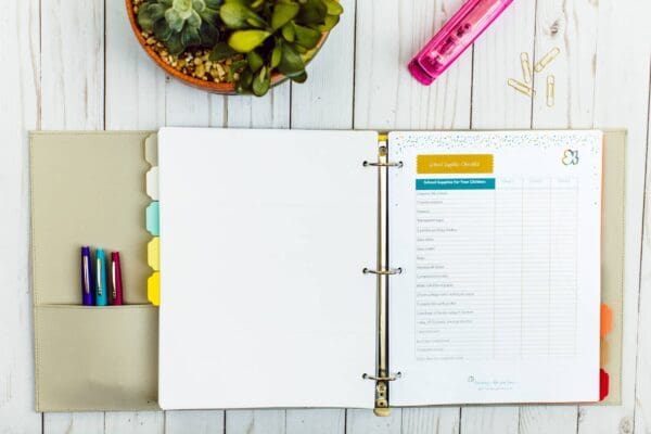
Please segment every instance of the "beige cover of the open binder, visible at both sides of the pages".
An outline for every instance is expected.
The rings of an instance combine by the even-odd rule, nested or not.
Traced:
[[[146,302],[144,139],[151,132],[33,132],[31,253],[37,411],[157,409],[157,308]],[[624,131],[605,132],[602,337],[607,403],[621,395]],[[125,302],[80,306],[79,247],[119,250]],[[605,343],[605,345],[603,345]],[[291,381],[291,379],[289,380]],[[345,393],[342,391],[342,393]]]

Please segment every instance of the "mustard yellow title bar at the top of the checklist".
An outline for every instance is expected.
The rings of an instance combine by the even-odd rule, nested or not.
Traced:
[[[493,174],[493,154],[418,155],[417,174]]]

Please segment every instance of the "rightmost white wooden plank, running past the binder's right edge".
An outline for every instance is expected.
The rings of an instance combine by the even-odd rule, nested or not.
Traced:
[[[648,340],[644,340],[648,322],[643,321],[650,310],[648,299],[638,305],[638,295],[649,282],[648,273],[644,273],[641,288],[639,285],[651,52],[651,28],[644,17],[651,14],[651,4],[635,0],[603,0],[599,9],[595,124],[628,129],[622,406],[599,410],[586,407],[579,431],[591,434],[621,430],[630,433],[635,418],[636,431],[643,433],[651,425],[651,384],[646,370],[650,349]],[[649,218],[649,214],[646,217]],[[646,295],[644,292],[642,294]],[[639,326],[638,309],[639,319],[643,321]],[[637,383],[636,357],[639,360]]]

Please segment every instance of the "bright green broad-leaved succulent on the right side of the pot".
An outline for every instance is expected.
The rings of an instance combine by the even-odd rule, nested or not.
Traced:
[[[215,44],[210,60],[244,54],[231,67],[240,74],[239,93],[267,93],[275,72],[303,82],[305,62],[342,13],[335,0],[225,0],[219,16],[230,35]]]

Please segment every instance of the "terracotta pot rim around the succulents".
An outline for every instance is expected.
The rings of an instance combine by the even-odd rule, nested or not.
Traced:
[[[140,46],[142,47],[142,49],[144,51],[146,51],[149,56],[156,63],[156,65],[158,65],[161,68],[163,68],[166,74],[168,74],[171,77],[175,77],[178,80],[183,81],[187,85],[193,86],[193,87],[202,89],[202,90],[207,90],[213,93],[222,93],[222,94],[234,94],[235,93],[235,85],[233,82],[215,82],[215,81],[202,80],[200,78],[186,75],[186,74],[181,73],[180,71],[175,69],[174,67],[171,67],[170,65],[165,63],[163,60],[161,60],[161,56],[158,56],[158,53],[156,53],[150,46],[146,44],[144,37],[142,36],[140,26],[138,25],[138,17],[133,13],[133,0],[125,0],[125,3],[127,7],[127,15],[129,16],[129,22],[131,23],[131,28],[133,29],[133,35],[136,35],[136,38],[138,38],[138,42],[140,42]],[[319,40],[319,43],[312,50],[311,56],[306,63],[309,63],[309,61],[311,61],[315,58],[315,55],[318,53],[319,49],[323,46],[323,42],[326,42],[328,35],[329,35],[329,31],[323,33],[323,35],[321,36],[321,40]],[[288,77],[285,77],[282,74],[275,73],[271,75],[271,86],[273,87],[276,85],[279,85],[280,82],[284,81],[286,78]]]

